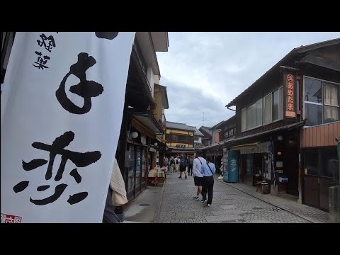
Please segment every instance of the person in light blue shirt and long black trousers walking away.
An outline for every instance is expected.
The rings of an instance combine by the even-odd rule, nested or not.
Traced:
[[[202,169],[200,170],[201,174],[203,174],[203,188],[202,188],[202,197],[204,205],[210,207],[212,203],[212,189],[214,188],[214,177],[216,167],[215,164],[211,162],[211,157],[207,157],[207,163],[202,165]],[[207,200],[208,193],[208,200]]]

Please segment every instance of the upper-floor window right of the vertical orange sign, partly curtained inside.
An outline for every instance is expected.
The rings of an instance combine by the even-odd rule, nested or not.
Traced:
[[[339,120],[339,85],[304,77],[304,117],[306,125]]]

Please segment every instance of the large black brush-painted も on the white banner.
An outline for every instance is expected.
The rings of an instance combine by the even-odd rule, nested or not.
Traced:
[[[104,89],[101,84],[98,84],[96,81],[86,80],[85,72],[94,66],[94,64],[96,64],[94,57],[89,56],[89,54],[85,52],[79,53],[78,62],[69,67],[69,72],[65,75],[64,79],[62,79],[59,89],[55,91],[55,96],[57,96],[60,105],[69,113],[84,114],[89,112],[91,110],[91,97],[96,97],[103,93]],[[71,74],[78,77],[80,82],[77,85],[71,86],[69,91],[84,98],[83,107],[76,106],[72,103],[65,92],[65,84]]]

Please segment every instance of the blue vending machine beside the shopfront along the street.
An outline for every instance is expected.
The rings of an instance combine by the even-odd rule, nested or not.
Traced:
[[[223,181],[238,182],[239,181],[239,152],[229,151],[223,152]],[[225,165],[226,164],[226,165]]]

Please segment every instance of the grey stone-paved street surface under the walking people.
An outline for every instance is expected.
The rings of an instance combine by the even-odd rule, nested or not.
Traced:
[[[179,174],[167,174],[164,184],[158,223],[310,222],[216,179],[210,208],[204,207],[200,201],[193,200],[197,190],[193,184],[193,176],[179,179]]]

